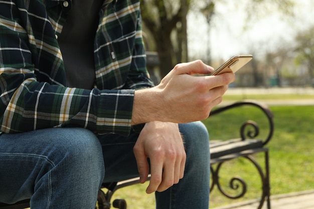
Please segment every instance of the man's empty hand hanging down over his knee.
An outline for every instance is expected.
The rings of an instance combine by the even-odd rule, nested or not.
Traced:
[[[149,158],[151,176],[147,193],[164,191],[183,178],[186,153],[178,124],[159,121],[146,123],[133,151],[141,183],[148,176]]]

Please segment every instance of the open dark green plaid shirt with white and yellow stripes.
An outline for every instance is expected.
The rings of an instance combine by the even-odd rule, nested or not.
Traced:
[[[129,134],[134,89],[153,85],[145,68],[139,0],[104,1],[93,90],[67,87],[57,37],[70,9],[70,0],[0,1],[1,132],[83,127]]]

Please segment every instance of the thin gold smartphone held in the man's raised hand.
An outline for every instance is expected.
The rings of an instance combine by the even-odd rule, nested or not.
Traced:
[[[252,58],[253,58],[252,55],[235,55],[231,57],[227,62],[222,64],[219,68],[217,68],[214,72],[212,72],[210,76],[227,72],[235,73],[240,68],[242,68],[246,63],[252,60]]]

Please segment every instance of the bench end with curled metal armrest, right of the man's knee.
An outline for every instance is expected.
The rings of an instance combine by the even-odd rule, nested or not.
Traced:
[[[264,119],[266,120],[266,128],[263,129],[262,138],[260,138],[260,128],[258,124],[253,120],[247,120],[240,124],[240,137],[236,139],[228,140],[210,140],[211,150],[211,176],[212,182],[210,191],[215,186],[218,190],[226,197],[232,199],[238,199],[244,196],[247,192],[247,185],[245,181],[240,177],[232,177],[230,180],[230,188],[234,190],[240,190],[236,194],[230,194],[224,190],[221,186],[220,180],[220,169],[223,163],[244,157],[248,159],[257,169],[261,180],[261,196],[259,198],[258,209],[262,208],[265,200],[267,202],[267,208],[270,209],[270,180],[269,180],[269,156],[268,147],[265,145],[270,141],[274,131],[273,125],[273,114],[266,105],[262,105],[256,101],[244,100],[235,102],[234,104],[216,109],[211,112],[210,116],[222,113],[224,111],[242,107],[252,106],[253,108],[260,109]],[[264,166],[254,158],[254,154],[263,153],[264,155]],[[214,165],[216,165],[214,167]],[[242,190],[241,190],[242,189]]]

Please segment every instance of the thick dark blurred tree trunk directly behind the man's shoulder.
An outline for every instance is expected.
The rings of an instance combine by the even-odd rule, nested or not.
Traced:
[[[142,0],[141,15],[145,29],[154,40],[158,52],[161,76],[164,77],[174,63],[186,62],[187,12],[190,0]],[[175,36],[176,41],[172,41]],[[175,48],[176,47],[176,48]]]

